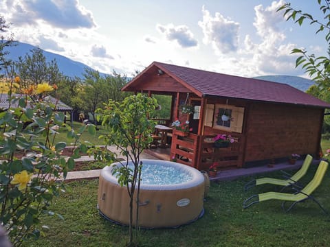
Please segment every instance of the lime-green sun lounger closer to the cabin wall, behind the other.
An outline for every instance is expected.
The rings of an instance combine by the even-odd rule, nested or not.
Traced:
[[[288,186],[292,186],[293,184],[296,184],[300,178],[302,178],[309,168],[309,165],[311,165],[311,161],[313,161],[313,157],[310,154],[307,154],[305,161],[303,165],[300,167],[298,172],[296,172],[293,176],[289,177],[290,174],[287,174],[285,172],[285,179],[279,179],[279,178],[258,178],[255,180],[251,180],[250,182],[246,183],[244,185],[245,191],[248,189],[257,186],[257,185],[264,185],[264,184],[272,184],[272,185],[281,185],[283,186],[283,189]],[[283,191],[283,189],[281,191]]]

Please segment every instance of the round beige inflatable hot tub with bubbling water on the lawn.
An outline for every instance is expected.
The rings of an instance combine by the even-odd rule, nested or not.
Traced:
[[[204,176],[201,172],[170,161],[142,162],[140,226],[176,227],[193,222],[203,215]],[[117,178],[112,175],[114,165],[119,166],[120,163],[104,167],[100,174],[98,210],[107,220],[128,225],[129,195],[126,187],[120,187]],[[135,219],[135,207],[133,213]]]

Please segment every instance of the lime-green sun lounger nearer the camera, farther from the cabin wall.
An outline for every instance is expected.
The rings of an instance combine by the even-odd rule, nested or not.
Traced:
[[[303,188],[303,189],[296,189],[295,193],[281,193],[281,192],[266,192],[261,193],[259,195],[251,196],[250,198],[246,199],[243,202],[243,208],[247,209],[248,207],[256,204],[258,202],[264,202],[266,200],[283,200],[282,208],[285,212],[289,211],[296,205],[298,202],[303,202],[307,199],[311,199],[318,204],[318,206],[327,214],[327,211],[321,206],[320,202],[318,202],[311,193],[320,185],[322,182],[323,177],[325,176],[325,172],[328,168],[327,161],[321,161],[320,165],[318,165],[318,169],[314,175],[314,178]],[[285,202],[293,202],[289,208],[285,209]]]

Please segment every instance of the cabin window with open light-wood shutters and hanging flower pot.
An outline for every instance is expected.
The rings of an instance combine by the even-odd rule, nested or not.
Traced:
[[[213,128],[229,132],[242,132],[244,108],[216,104],[213,117]]]

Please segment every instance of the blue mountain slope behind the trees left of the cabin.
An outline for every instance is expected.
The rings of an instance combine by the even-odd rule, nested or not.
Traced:
[[[36,49],[37,47],[21,42],[17,42],[17,46],[13,47],[5,47],[5,51],[9,51],[9,54],[6,55],[7,58],[17,61],[19,56],[24,57],[25,54],[31,54],[30,50]],[[46,58],[47,62],[50,62],[53,59],[56,59],[58,69],[63,73],[63,75],[67,75],[69,77],[77,76],[79,78],[83,78],[83,73],[85,72],[85,68],[91,69],[86,64],[82,62],[76,62],[71,60],[65,56],[61,56],[58,54],[54,54],[49,51],[43,50],[43,55]],[[104,73],[100,73],[101,75],[105,75]]]

